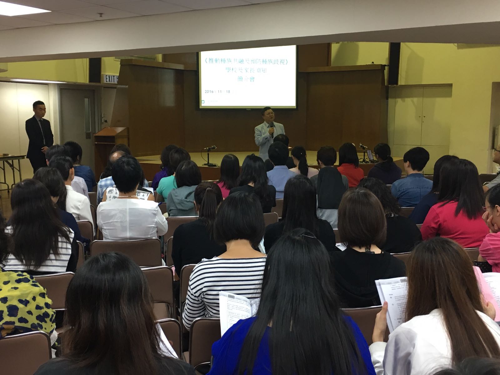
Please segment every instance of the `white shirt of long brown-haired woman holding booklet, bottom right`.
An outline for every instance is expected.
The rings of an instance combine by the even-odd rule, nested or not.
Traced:
[[[500,346],[498,324],[476,312]],[[402,323],[389,334],[387,343],[373,342],[369,349],[377,375],[430,375],[452,364],[449,336],[438,308]]]

